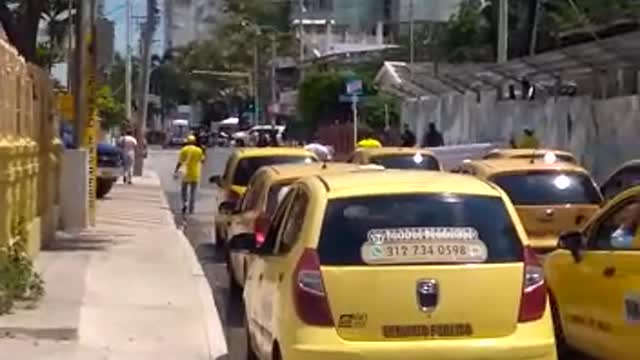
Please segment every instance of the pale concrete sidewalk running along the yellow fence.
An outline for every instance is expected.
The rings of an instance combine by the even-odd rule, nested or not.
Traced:
[[[218,359],[227,353],[211,289],[146,169],[98,202],[97,226],[60,234],[38,258],[47,294],[0,317],[12,359]]]

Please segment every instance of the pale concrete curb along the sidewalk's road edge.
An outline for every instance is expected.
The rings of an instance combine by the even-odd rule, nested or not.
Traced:
[[[153,160],[151,160],[153,162]],[[158,174],[150,169],[145,169],[146,176],[155,178],[160,183],[160,177]],[[163,206],[165,209],[170,209],[169,201],[162,192]],[[174,231],[176,237],[178,237],[183,255],[189,264],[189,272],[193,277],[193,280],[196,284],[196,290],[198,291],[198,297],[200,299],[200,305],[202,307],[202,311],[204,314],[205,321],[205,329],[204,332],[207,337],[207,345],[209,347],[209,359],[216,360],[228,354],[228,347],[226,343],[226,338],[224,336],[224,330],[222,328],[222,322],[220,320],[220,314],[218,313],[218,309],[215,305],[215,301],[213,298],[213,289],[209,285],[207,278],[205,276],[204,270],[196,257],[195,250],[191,246],[189,239],[180,231],[177,227],[175,227],[175,220],[173,217],[173,213],[171,210],[165,210],[165,215],[167,216],[167,221],[174,225]]]

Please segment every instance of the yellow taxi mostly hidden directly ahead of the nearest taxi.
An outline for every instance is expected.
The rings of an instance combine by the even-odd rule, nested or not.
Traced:
[[[278,200],[296,180],[305,176],[358,169],[361,168],[357,165],[337,162],[264,166],[251,178],[239,208],[229,216],[228,222],[221,224],[229,229],[221,232],[229,234],[230,238],[234,234],[253,232],[258,243],[261,243]],[[248,255],[246,251],[229,251],[227,266],[234,292],[244,286],[245,274],[251,261]]]

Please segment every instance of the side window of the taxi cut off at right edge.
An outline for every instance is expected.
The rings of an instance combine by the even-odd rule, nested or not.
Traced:
[[[596,224],[589,236],[592,250],[640,250],[635,241],[640,223],[640,199],[622,203]]]

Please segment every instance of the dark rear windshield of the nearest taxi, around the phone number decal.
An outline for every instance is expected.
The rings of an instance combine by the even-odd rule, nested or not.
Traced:
[[[480,262],[522,261],[522,243],[500,198],[452,194],[402,194],[330,200],[317,249],[320,262],[327,266],[372,265],[372,262],[367,260],[366,251],[363,250],[371,247],[372,240],[375,242],[372,234],[397,232],[401,229],[436,233],[442,229],[470,229],[476,233],[476,241],[486,253],[486,258]],[[389,244],[402,245],[397,247],[400,250],[405,244],[409,245],[410,252],[416,247],[422,247],[423,250],[417,254],[418,257],[414,256],[412,262],[398,261],[395,264],[386,264],[449,264],[446,261],[422,261],[420,258],[421,255],[427,255],[424,252],[425,247],[433,247],[435,250],[445,244],[437,237],[411,240],[413,241],[401,240]]]

